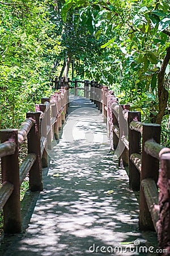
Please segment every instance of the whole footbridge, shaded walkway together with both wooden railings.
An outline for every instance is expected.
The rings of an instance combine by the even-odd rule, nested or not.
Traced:
[[[163,184],[170,160],[160,126],[118,105],[107,86],[75,85],[42,98],[19,130],[1,131],[1,255],[158,255],[158,248],[168,255]],[[30,191],[20,205],[28,172]]]

